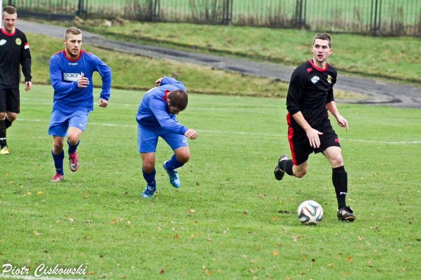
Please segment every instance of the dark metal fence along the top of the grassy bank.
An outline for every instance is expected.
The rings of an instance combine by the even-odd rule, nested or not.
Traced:
[[[303,28],[421,36],[421,0],[3,0],[20,16]]]

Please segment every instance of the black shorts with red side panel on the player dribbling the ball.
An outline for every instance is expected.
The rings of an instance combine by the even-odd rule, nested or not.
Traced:
[[[294,165],[299,165],[308,160],[308,156],[313,152],[317,154],[329,147],[340,147],[337,134],[330,122],[326,123],[324,128],[317,128],[317,130],[323,132],[323,135],[319,135],[320,147],[313,148],[310,146],[310,141],[304,130],[294,130],[291,126],[288,127],[288,141],[290,142]]]

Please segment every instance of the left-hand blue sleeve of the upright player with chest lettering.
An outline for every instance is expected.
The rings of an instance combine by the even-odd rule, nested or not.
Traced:
[[[50,58],[50,81],[54,88],[54,98],[60,99],[61,97],[67,96],[74,90],[77,90],[78,81],[64,82],[62,81],[62,70],[60,67],[60,58],[54,54]]]

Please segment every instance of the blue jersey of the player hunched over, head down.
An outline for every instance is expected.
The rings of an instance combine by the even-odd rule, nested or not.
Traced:
[[[137,110],[137,123],[157,133],[166,130],[184,135],[188,128],[176,120],[175,114],[169,114],[167,106],[167,94],[177,89],[186,91],[182,82],[173,78],[164,77],[160,86],[154,87],[146,92]]]

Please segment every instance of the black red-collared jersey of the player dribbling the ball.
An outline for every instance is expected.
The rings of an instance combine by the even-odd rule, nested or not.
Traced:
[[[301,112],[308,124],[315,129],[324,121],[329,121],[326,104],[335,100],[333,85],[336,78],[337,71],[329,64],[326,64],[325,69],[319,69],[310,60],[298,66],[293,72],[288,89],[288,114],[292,116]],[[302,130],[294,118],[288,119],[293,128]]]

